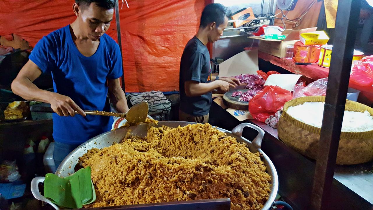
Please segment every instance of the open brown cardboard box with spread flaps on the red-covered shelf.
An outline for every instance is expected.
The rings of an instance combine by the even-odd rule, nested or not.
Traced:
[[[249,38],[259,40],[259,51],[283,58],[286,57],[286,46],[293,45],[295,42],[299,41],[300,34],[316,31],[316,28],[317,27],[301,30],[285,30],[282,32],[282,34],[286,35],[284,40],[264,39],[260,38],[260,36]]]

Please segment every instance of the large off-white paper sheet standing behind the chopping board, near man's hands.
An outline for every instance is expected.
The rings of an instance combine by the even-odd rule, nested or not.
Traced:
[[[258,70],[258,50],[246,50],[219,64],[219,77],[257,74]]]

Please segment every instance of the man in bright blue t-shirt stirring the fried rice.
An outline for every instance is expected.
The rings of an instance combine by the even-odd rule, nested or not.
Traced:
[[[128,111],[119,82],[123,74],[120,49],[105,34],[114,7],[115,0],[75,0],[76,20],[43,37],[12,83],[15,94],[28,101],[50,103],[56,112],[56,167],[78,145],[111,129],[112,117],[86,116],[82,109],[110,111],[109,96],[118,112]],[[41,90],[32,83],[46,72],[52,74],[54,92]]]

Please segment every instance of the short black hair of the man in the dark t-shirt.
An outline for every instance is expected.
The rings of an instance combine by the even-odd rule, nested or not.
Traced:
[[[212,22],[220,25],[224,22],[224,18],[228,17],[230,11],[223,4],[208,4],[202,12],[200,27],[206,27]]]

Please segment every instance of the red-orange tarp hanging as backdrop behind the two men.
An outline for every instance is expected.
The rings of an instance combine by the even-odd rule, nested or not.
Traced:
[[[73,0],[0,1],[0,35],[18,34],[35,46],[51,31],[75,20]],[[126,92],[179,89],[186,42],[198,30],[205,0],[119,1]],[[120,9],[122,7],[122,9]],[[115,17],[109,34],[116,37]]]

